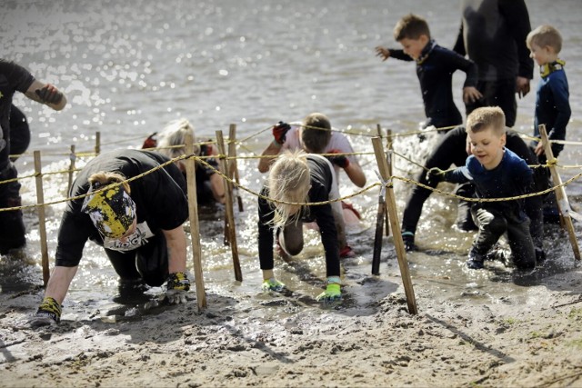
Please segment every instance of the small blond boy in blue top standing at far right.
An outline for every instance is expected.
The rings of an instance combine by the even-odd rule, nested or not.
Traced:
[[[534,135],[539,138],[538,125],[546,124],[550,140],[566,139],[566,125],[570,120],[570,104],[568,102],[568,86],[564,61],[557,55],[562,49],[562,36],[551,25],[540,25],[527,35],[527,48],[537,65],[541,79],[537,85],[536,95],[536,119]],[[544,154],[541,142],[532,144],[536,147],[539,157]],[[557,156],[563,144],[552,144],[552,152]],[[542,156],[540,162],[544,163],[546,157]]]

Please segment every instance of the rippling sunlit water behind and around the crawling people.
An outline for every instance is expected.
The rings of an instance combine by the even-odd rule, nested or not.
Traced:
[[[567,61],[573,116],[568,138],[582,134],[580,83],[582,39],[580,7],[558,0],[528,0],[532,25],[557,25],[564,36],[563,59]],[[235,123],[238,138],[256,133],[279,120],[294,121],[320,111],[332,124],[364,134],[376,133],[376,124],[396,133],[415,130],[423,119],[421,96],[414,66],[401,62],[381,63],[376,45],[394,45],[392,28],[402,15],[426,16],[431,33],[441,45],[452,46],[457,36],[457,0],[348,1],[334,6],[308,0],[265,2],[219,0],[185,2],[169,0],[125,3],[79,0],[75,2],[14,1],[0,4],[0,35],[3,55],[28,67],[39,78],[64,88],[69,104],[63,112],[39,108],[22,95],[15,103],[28,116],[33,132],[30,150],[43,152],[44,171],[68,168],[69,144],[92,150],[95,132],[102,135],[102,150],[136,147],[146,134],[158,131],[168,121],[186,117],[200,137],[214,137],[218,129]],[[139,9],[140,12],[135,12]],[[537,83],[538,75],[534,77]],[[456,74],[454,91],[464,76]],[[535,95],[519,101],[517,129],[531,132]],[[357,151],[372,150],[369,137],[353,136]],[[270,141],[268,134],[250,138],[239,154],[260,153]],[[436,139],[432,139],[436,141]],[[396,151],[417,162],[430,145],[415,138],[396,142]],[[582,148],[567,146],[563,164],[582,164]],[[368,184],[376,182],[376,162],[361,157]],[[83,164],[83,161],[78,161]],[[239,164],[242,183],[258,190],[263,176],[256,161]],[[20,174],[30,174],[32,158],[22,157]],[[395,174],[414,176],[417,167],[397,160]],[[565,176],[577,174],[567,170]],[[342,194],[353,187],[340,177]],[[65,197],[67,177],[46,175],[45,201]],[[452,188],[452,187],[450,187]],[[401,210],[411,186],[396,181],[396,201]],[[567,188],[577,206],[582,195],[579,183]],[[35,186],[23,181],[23,201],[35,204]],[[235,282],[230,249],[222,243],[223,212],[201,214],[206,290],[212,303],[238,305],[249,317],[270,314],[317,313],[313,302],[325,278],[323,250],[312,232],[306,252],[288,263],[276,262],[276,274],[295,294],[274,297],[259,293],[261,284],[256,250],[256,199],[242,193],[245,212],[236,214],[236,228],[244,282]],[[334,308],[351,315],[374,313],[377,301],[386,295],[401,298],[402,282],[391,237],[383,241],[381,275],[371,272],[376,221],[377,188],[353,199],[364,223],[348,231],[356,257],[343,263],[345,298]],[[507,294],[524,303],[539,303],[528,284],[544,284],[549,274],[561,274],[574,266],[567,238],[555,228],[547,230],[548,263],[535,274],[515,274],[501,264],[482,272],[468,272],[465,256],[472,234],[453,227],[454,200],[433,195],[426,202],[418,225],[417,243],[423,251],[408,254],[417,293],[436,300],[503,303]],[[55,253],[56,234],[63,204],[46,208],[48,251]],[[33,293],[40,300],[42,284],[37,214],[25,211],[28,245],[22,252],[0,258],[3,296]],[[191,264],[190,269],[192,269]],[[156,312],[152,289],[146,297],[118,298],[116,275],[105,254],[87,244],[78,274],[65,301],[65,319],[97,314],[104,319],[135,319],[146,311]],[[194,297],[194,293],[193,293]],[[401,302],[401,301],[400,301]],[[422,306],[419,306],[422,309]]]

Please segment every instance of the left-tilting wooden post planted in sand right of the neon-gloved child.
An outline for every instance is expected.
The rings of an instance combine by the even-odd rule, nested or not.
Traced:
[[[388,218],[392,226],[392,236],[394,238],[394,246],[396,248],[396,257],[398,258],[398,266],[400,267],[400,275],[404,285],[404,292],[406,293],[406,303],[408,303],[408,313],[416,314],[416,297],[412,286],[412,279],[408,271],[408,261],[406,260],[406,249],[402,241],[402,234],[400,233],[400,225],[398,224],[398,213],[396,209],[396,198],[392,186],[392,179],[389,173],[390,167],[386,159],[386,154],[382,148],[382,139],[380,137],[372,138],[372,145],[374,146],[374,154],[376,154],[376,163],[380,169],[380,175],[386,184],[386,207],[388,208]]]

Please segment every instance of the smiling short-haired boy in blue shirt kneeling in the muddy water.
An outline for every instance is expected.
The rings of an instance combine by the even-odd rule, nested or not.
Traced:
[[[469,114],[467,136],[471,155],[465,166],[448,172],[433,168],[428,172],[429,180],[471,182],[479,198],[506,198],[529,192],[533,173],[523,159],[505,147],[505,114],[501,108],[478,108]],[[536,266],[523,199],[477,203],[472,206],[471,214],[478,231],[468,254],[467,267],[483,268],[487,254],[505,233],[517,268]]]

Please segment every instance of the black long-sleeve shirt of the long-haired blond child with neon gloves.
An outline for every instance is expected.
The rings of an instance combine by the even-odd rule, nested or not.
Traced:
[[[329,164],[321,157],[307,156],[307,165],[311,176],[309,202],[325,202],[329,200],[329,191],[332,188],[333,173]],[[261,194],[268,197],[269,190],[265,186]],[[270,270],[273,262],[273,214],[274,209],[266,201],[258,199],[258,257],[262,270]],[[321,242],[326,251],[326,275],[339,276],[339,247],[337,245],[336,222],[332,213],[331,204],[308,206],[301,210],[301,221],[310,223],[315,221],[319,226]]]

